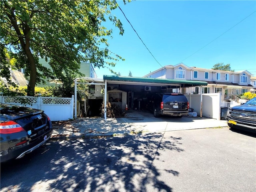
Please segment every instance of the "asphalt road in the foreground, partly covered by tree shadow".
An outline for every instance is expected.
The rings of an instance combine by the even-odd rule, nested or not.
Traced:
[[[1,192],[256,191],[256,138],[228,128],[50,141],[1,164]]]

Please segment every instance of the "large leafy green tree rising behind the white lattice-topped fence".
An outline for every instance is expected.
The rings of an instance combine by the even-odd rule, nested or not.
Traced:
[[[1,0],[0,4],[1,76],[10,80],[10,64],[4,61],[9,53],[16,68],[25,68],[28,96],[34,96],[34,87],[43,78],[70,82],[80,74],[81,61],[109,68],[123,60],[108,49],[112,29],[104,26],[108,18],[124,33],[120,20],[111,14],[118,8],[116,0]],[[51,69],[39,64],[39,57]]]

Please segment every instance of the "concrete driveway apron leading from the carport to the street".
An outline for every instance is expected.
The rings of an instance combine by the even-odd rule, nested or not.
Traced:
[[[184,116],[155,118],[147,111],[128,110],[122,118],[77,118],[53,126],[52,139],[90,138],[96,136],[123,136],[146,132],[164,132],[228,126],[226,120]]]

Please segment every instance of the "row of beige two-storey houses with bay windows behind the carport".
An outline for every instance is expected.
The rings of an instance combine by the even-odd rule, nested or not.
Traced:
[[[200,87],[191,87],[182,88],[180,92],[184,94],[200,94],[201,91],[203,94],[220,92],[222,101],[230,101],[234,100],[236,95],[248,92],[253,88],[250,84],[251,76],[252,74],[247,70],[240,72],[212,70],[188,67],[180,63],[174,66],[164,66],[143,77],[206,81],[208,85],[202,87],[202,90]]]

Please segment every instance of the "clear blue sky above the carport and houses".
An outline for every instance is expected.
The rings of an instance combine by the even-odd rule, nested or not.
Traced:
[[[108,42],[109,49],[125,59],[112,68],[121,76],[131,71],[132,76],[142,77],[180,62],[207,69],[223,62],[235,71],[248,70],[256,76],[256,1],[118,3],[154,56],[117,8],[112,14],[121,20],[124,35],[112,26],[114,38]],[[98,78],[112,75],[106,68],[96,68],[96,74]]]

